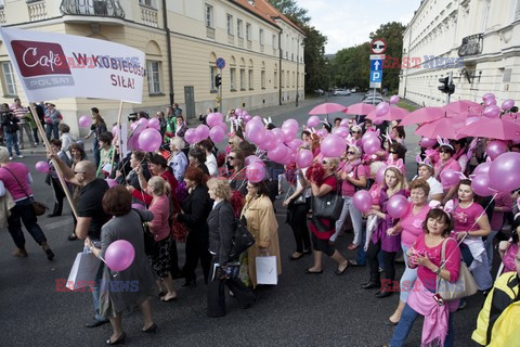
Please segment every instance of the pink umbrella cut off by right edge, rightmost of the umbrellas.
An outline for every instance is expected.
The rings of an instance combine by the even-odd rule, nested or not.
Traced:
[[[479,137],[497,140],[519,140],[520,123],[502,118],[482,117],[459,130],[461,137]]]

